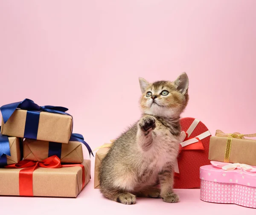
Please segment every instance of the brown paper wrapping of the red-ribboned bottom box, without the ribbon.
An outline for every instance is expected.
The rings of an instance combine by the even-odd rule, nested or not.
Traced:
[[[85,184],[90,181],[90,160],[84,160]],[[20,195],[21,169],[0,168],[0,195]],[[82,168],[57,169],[38,167],[33,172],[33,195],[45,197],[76,197],[82,190]]]

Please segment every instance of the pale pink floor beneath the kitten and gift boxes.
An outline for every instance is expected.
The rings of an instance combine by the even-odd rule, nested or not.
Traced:
[[[92,159],[94,161],[94,159]],[[92,175],[93,176],[93,175]],[[16,215],[131,215],[179,214],[255,215],[255,209],[233,204],[214,204],[200,200],[200,190],[176,190],[180,202],[169,204],[162,199],[138,198],[134,205],[123,205],[102,197],[93,189],[93,178],[77,198],[0,197],[1,211]],[[15,207],[14,207],[15,204]],[[221,212],[221,213],[220,213]]]

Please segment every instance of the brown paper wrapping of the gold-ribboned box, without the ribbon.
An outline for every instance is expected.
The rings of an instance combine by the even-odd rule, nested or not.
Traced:
[[[224,162],[227,137],[211,136],[209,160]],[[232,138],[230,163],[256,166],[256,140]]]

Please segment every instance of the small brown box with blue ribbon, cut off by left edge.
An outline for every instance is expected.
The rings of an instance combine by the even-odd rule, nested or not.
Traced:
[[[0,166],[16,164],[21,159],[20,140],[0,134]]]

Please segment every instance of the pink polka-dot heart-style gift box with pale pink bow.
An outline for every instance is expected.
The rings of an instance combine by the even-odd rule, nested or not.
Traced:
[[[245,164],[211,162],[200,168],[200,199],[256,208],[256,168]]]

